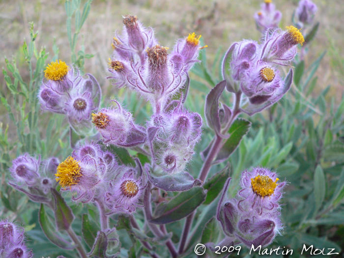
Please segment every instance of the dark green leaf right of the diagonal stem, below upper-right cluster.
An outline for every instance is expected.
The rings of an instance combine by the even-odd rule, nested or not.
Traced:
[[[223,162],[229,158],[230,154],[232,154],[234,150],[237,148],[237,146],[240,144],[240,141],[243,138],[243,136],[247,134],[250,127],[251,122],[243,118],[237,118],[232,123],[228,131],[230,136],[220,149],[219,154],[217,155],[214,161],[214,164]]]

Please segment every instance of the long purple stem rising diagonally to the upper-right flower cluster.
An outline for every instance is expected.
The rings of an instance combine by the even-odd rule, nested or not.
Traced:
[[[236,92],[234,95],[234,98],[235,98],[234,107],[233,107],[232,115],[230,117],[230,122],[229,122],[228,126],[226,128],[224,128],[224,131],[229,130],[229,128],[230,128],[231,124],[233,123],[233,121],[235,120],[235,118],[241,113],[241,110],[240,110],[241,91]],[[215,139],[215,141],[214,141],[213,145],[211,146],[211,149],[210,149],[208,155],[205,158],[205,161],[203,163],[203,166],[201,168],[201,172],[199,175],[199,179],[202,182],[204,182],[205,179],[207,178],[207,175],[210,171],[213,160],[216,157],[216,155],[219,153],[219,151],[222,147],[222,144],[223,144],[223,139],[221,136],[215,135],[214,139]],[[179,254],[182,254],[184,252],[184,246],[185,246],[185,243],[187,241],[187,237],[188,237],[189,231],[191,229],[194,216],[195,216],[195,211],[193,213],[191,213],[185,220],[183,232],[182,232],[182,235],[181,235],[181,238],[179,241],[179,248],[178,248]]]

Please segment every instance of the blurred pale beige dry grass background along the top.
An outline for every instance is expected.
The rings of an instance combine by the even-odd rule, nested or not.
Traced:
[[[170,47],[176,39],[196,32],[202,35],[206,49],[208,65],[212,64],[215,54],[221,48],[221,55],[229,46],[243,38],[259,40],[254,13],[260,9],[258,0],[93,0],[91,11],[79,34],[84,42],[86,53],[94,54],[86,59],[85,72],[91,73],[102,87],[103,94],[110,98],[116,89],[105,79],[107,62],[111,56],[114,31],[122,29],[121,16],[137,15],[146,27],[155,29],[155,35],[163,46]],[[315,22],[320,28],[310,45],[306,56],[307,64],[328,49],[317,71],[318,89],[331,85],[329,95],[335,95],[340,101],[344,83],[344,4],[343,0],[314,0],[318,6]],[[283,18],[281,28],[291,24],[291,16],[298,0],[275,0],[276,8],[281,10]],[[83,5],[83,4],[82,4]],[[64,0],[1,0],[0,1],[0,65],[5,66],[4,56],[15,58],[24,79],[29,79],[23,53],[19,50],[24,38],[29,40],[29,22],[34,22],[34,31],[38,30],[36,47],[45,46],[53,58],[53,42],[56,39],[59,48],[58,57],[70,63],[70,49],[66,33],[66,13]],[[73,21],[72,21],[73,26]],[[73,29],[73,28],[72,28]],[[0,77],[0,92],[10,97],[4,78]],[[1,105],[0,105],[1,106]],[[2,126],[8,122],[3,106],[0,107]]]

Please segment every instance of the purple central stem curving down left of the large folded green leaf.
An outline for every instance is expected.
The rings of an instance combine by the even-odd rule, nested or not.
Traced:
[[[147,188],[144,191],[144,208],[143,208],[144,217],[145,217],[145,221],[147,222],[148,227],[152,231],[152,233],[155,236],[162,238],[162,237],[164,237],[164,234],[163,234],[163,232],[160,231],[158,226],[155,224],[149,223],[149,221],[153,218],[152,206],[150,204],[150,189],[151,189],[151,183],[148,182]],[[169,249],[172,258],[176,258],[178,256],[178,253],[177,253],[171,239],[168,240],[165,244],[166,244],[167,248]]]

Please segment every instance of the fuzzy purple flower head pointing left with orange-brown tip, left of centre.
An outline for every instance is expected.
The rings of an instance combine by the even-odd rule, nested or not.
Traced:
[[[117,107],[101,109],[92,114],[92,123],[103,137],[103,143],[123,147],[140,145],[146,140],[146,130],[134,123],[130,112],[113,100]]]

